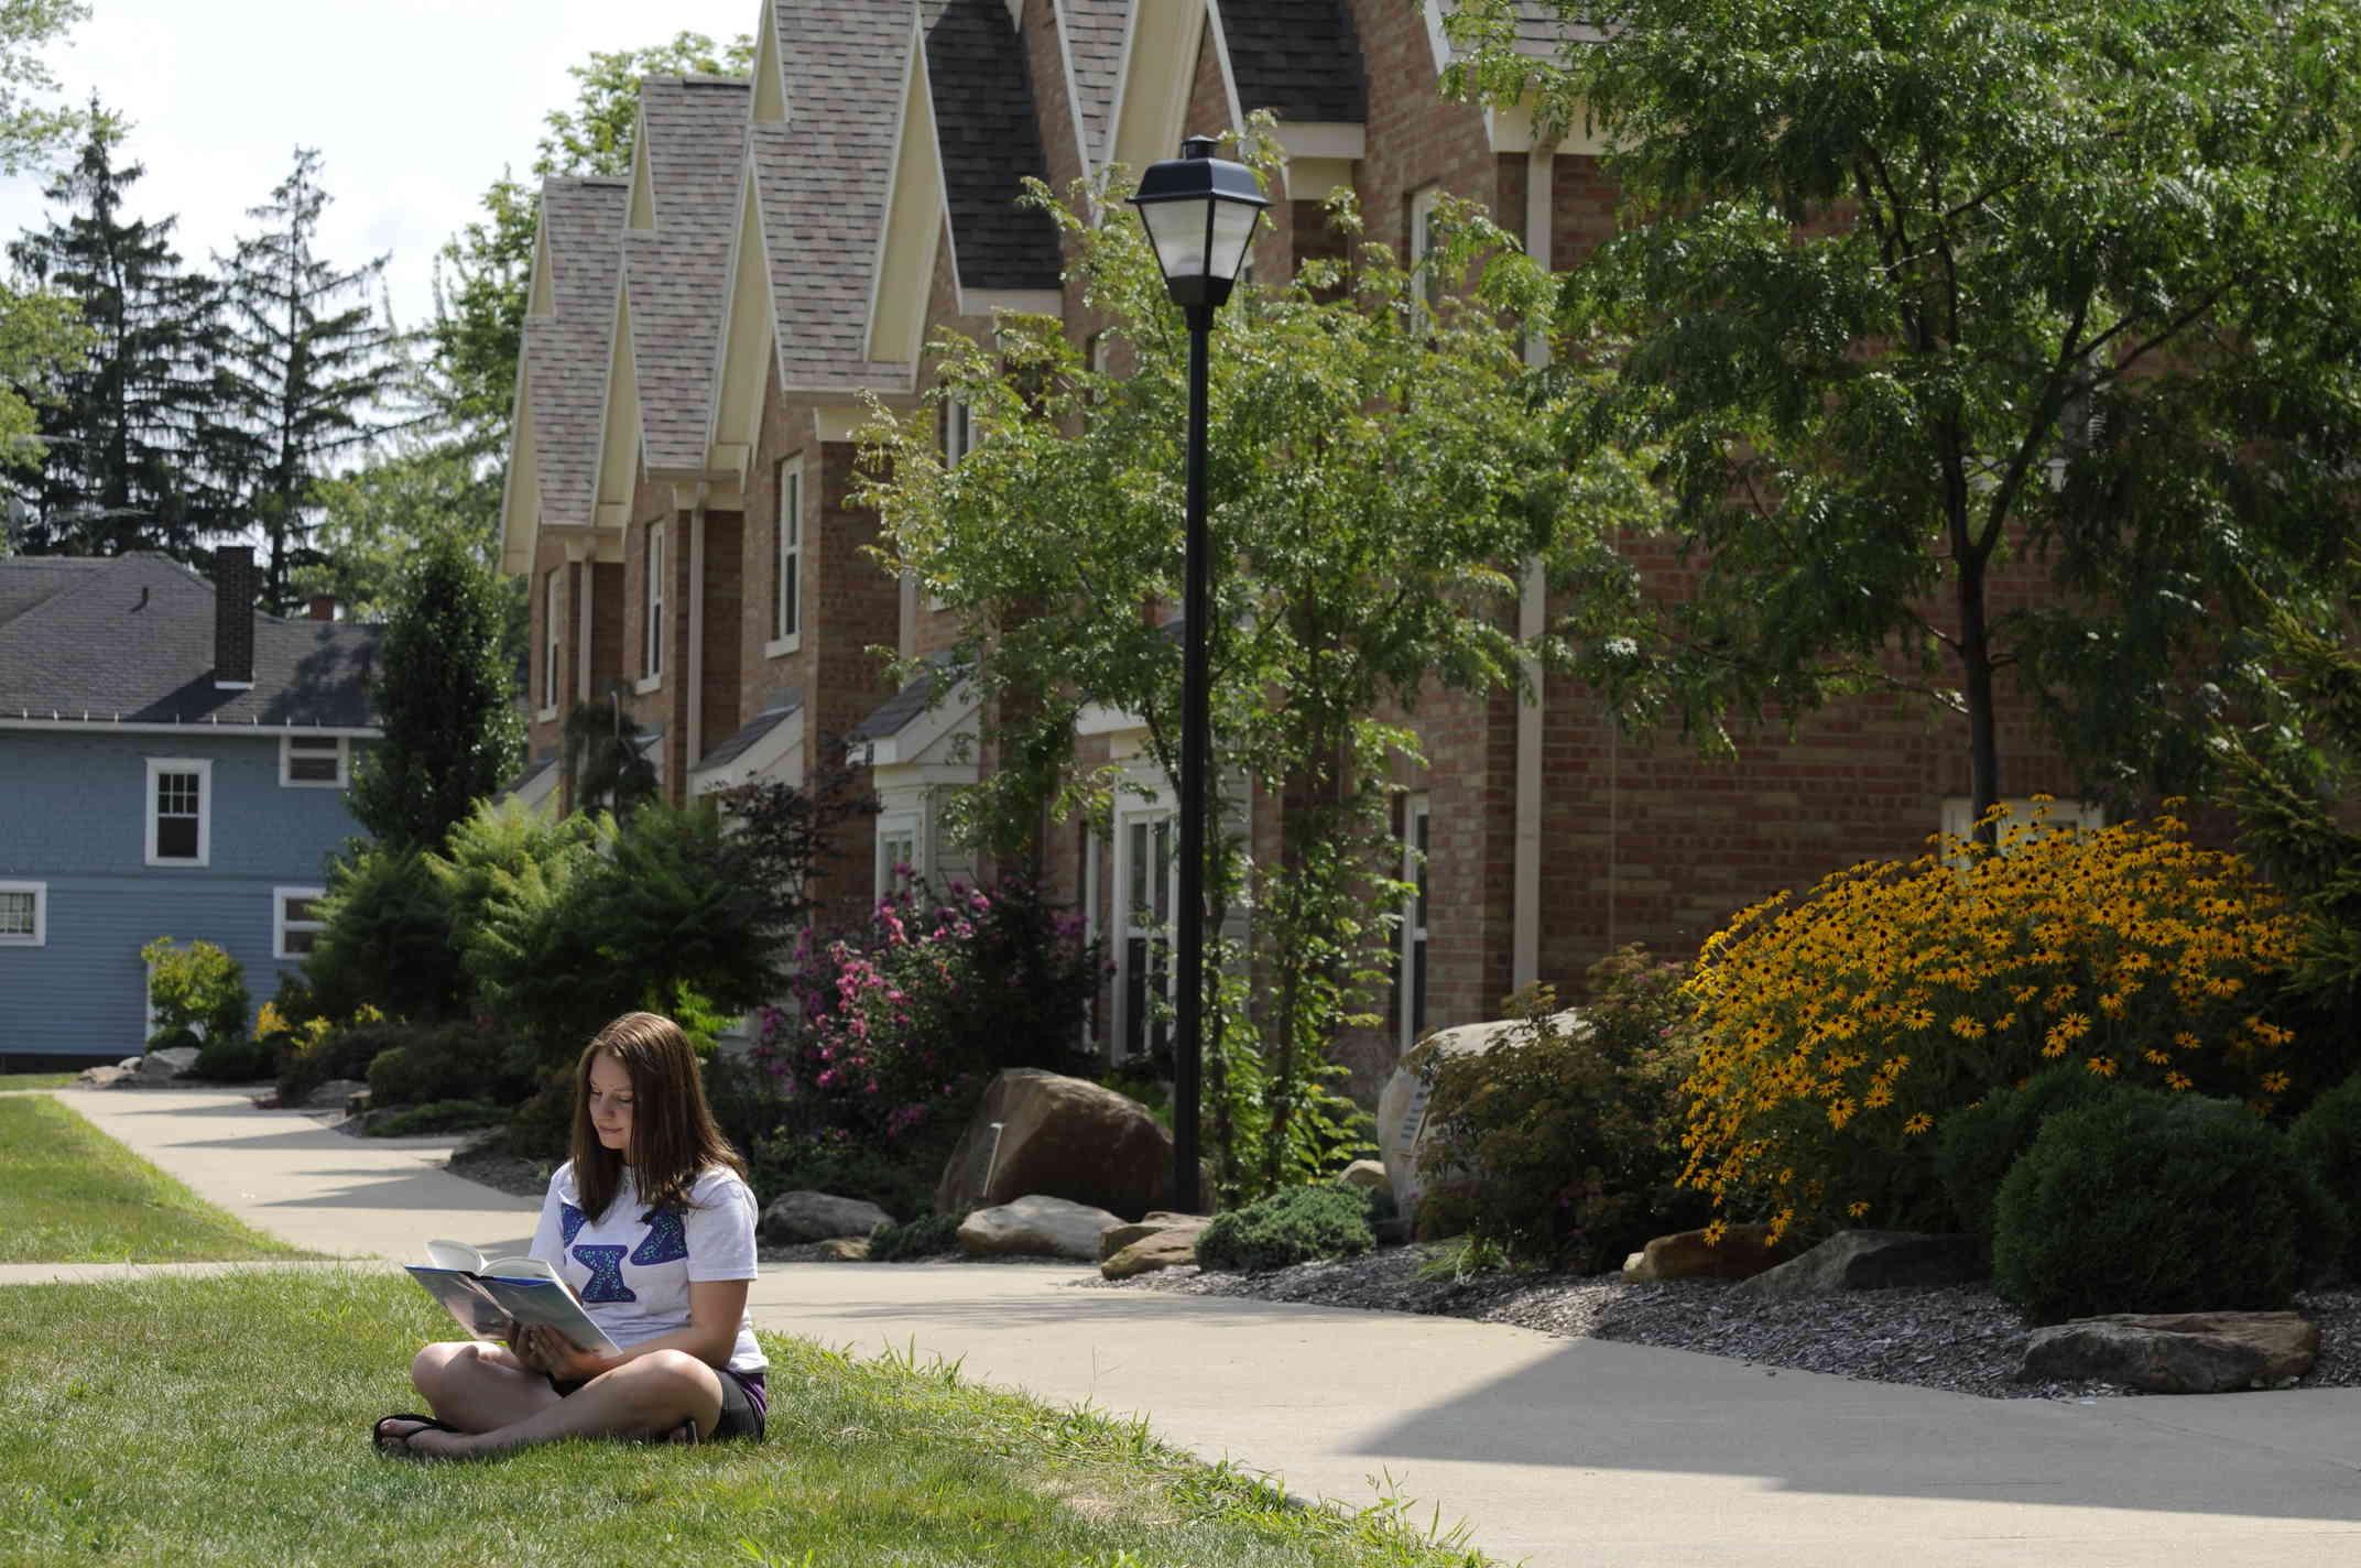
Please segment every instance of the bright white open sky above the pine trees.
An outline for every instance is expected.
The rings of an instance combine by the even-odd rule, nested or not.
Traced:
[[[390,255],[404,328],[432,312],[432,262],[503,165],[519,177],[541,116],[574,102],[567,66],[675,31],[751,33],[760,0],[90,0],[47,59],[73,102],[97,87],[144,163],[132,217],[177,213],[182,260],[210,267],[316,146],[340,269]],[[0,179],[0,241],[42,224],[38,177]]]

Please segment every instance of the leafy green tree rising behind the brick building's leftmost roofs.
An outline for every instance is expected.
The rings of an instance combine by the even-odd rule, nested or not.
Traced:
[[[628,175],[630,132],[642,76],[746,76],[753,38],[715,45],[704,33],[675,33],[647,50],[597,50],[569,66],[576,97],[552,109],[534,153],[534,179],[548,175]],[[538,189],[508,170],[484,191],[484,215],[453,234],[434,260],[437,401],[472,449],[508,446],[508,413],[524,347],[524,295],[531,288]]]

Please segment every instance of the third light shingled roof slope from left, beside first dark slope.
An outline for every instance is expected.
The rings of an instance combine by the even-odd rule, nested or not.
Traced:
[[[770,0],[789,123],[748,130],[779,309],[779,380],[895,390],[869,352],[869,290],[916,35],[909,0]]]

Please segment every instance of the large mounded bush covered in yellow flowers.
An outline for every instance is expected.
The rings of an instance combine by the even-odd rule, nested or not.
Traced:
[[[2170,815],[2047,831],[1995,808],[1997,845],[1936,836],[1707,937],[1686,994],[1698,1067],[1683,1183],[1773,1237],[1844,1216],[1950,1226],[1934,1129],[2054,1063],[2269,1110],[2295,919]]]

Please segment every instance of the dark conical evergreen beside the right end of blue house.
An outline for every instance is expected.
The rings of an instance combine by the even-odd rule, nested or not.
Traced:
[[[352,815],[380,843],[439,850],[524,753],[505,590],[456,538],[427,538],[394,595],[371,706],[385,739],[354,765]]]

